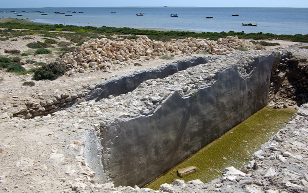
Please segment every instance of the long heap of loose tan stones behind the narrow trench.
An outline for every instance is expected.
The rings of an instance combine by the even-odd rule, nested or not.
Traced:
[[[262,49],[260,45],[254,45],[237,36],[219,38],[217,41],[189,37],[168,42],[151,40],[147,36],[124,41],[103,38],[85,42],[75,52],[64,54],[60,62],[67,67],[66,75],[70,76],[87,70],[107,72],[114,65],[130,65],[138,60],[146,61],[164,55],[190,56],[198,52],[225,55],[238,48]]]

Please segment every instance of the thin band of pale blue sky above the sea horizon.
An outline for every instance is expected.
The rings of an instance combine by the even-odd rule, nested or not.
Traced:
[[[192,7],[308,7],[307,0],[1,0],[0,8],[18,7],[127,7],[127,6],[192,6]]]

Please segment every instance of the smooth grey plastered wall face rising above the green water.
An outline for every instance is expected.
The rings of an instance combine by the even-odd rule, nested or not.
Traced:
[[[268,104],[274,55],[232,65],[191,97],[178,92],[156,112],[101,131],[102,165],[115,185],[143,186]]]

